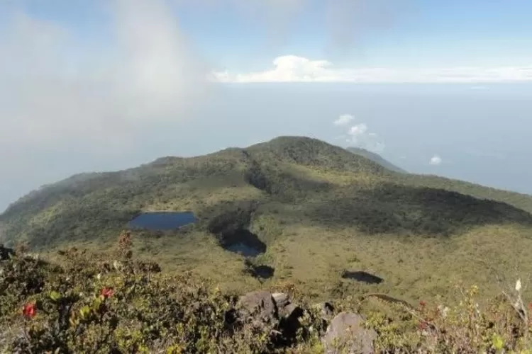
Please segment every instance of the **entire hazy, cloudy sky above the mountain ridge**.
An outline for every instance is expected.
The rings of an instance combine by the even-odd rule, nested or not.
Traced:
[[[1,0],[0,210],[306,135],[532,193],[529,0]]]

